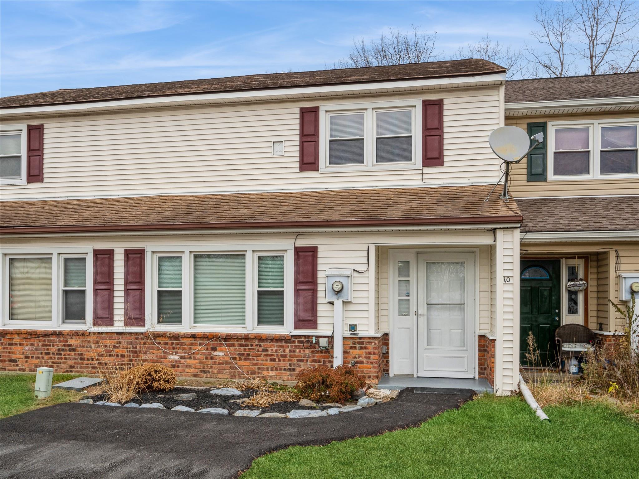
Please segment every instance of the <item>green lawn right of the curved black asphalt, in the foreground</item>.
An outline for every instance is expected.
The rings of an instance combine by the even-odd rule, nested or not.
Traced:
[[[420,427],[265,455],[242,479],[639,478],[639,425],[601,404],[544,411],[551,423],[487,395]]]

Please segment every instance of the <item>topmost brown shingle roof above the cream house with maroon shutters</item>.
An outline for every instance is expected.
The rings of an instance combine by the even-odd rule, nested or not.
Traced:
[[[29,95],[5,96],[0,105],[27,107],[56,105],[61,103],[98,102],[123,100],[146,96],[187,95],[192,93],[217,93],[220,91],[286,88],[389,80],[423,79],[433,77],[457,77],[503,73],[503,66],[481,59],[431,61],[411,65],[369,66],[366,68],[341,68],[314,72],[266,73],[242,77],[183,80],[179,82],[142,83],[137,85],[73,88]]]

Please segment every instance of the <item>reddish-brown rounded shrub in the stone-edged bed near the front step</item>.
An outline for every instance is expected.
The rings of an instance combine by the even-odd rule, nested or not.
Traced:
[[[366,380],[358,376],[351,367],[317,367],[299,372],[295,390],[305,399],[312,401],[344,402],[364,386]]]

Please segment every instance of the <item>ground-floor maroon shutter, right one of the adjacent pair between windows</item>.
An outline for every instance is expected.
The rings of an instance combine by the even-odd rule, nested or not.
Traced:
[[[144,249],[124,250],[124,325],[144,326]]]

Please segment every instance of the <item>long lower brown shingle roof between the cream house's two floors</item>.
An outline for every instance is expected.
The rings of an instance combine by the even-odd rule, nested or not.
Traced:
[[[160,195],[0,202],[12,231],[125,231],[328,225],[518,222],[491,186]]]

